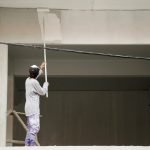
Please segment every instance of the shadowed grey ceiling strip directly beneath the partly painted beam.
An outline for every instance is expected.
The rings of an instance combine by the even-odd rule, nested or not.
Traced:
[[[43,45],[41,45],[43,47]],[[130,56],[150,57],[150,45],[48,45],[47,47],[57,47],[60,51],[47,50],[48,59],[120,59],[99,55],[78,54],[63,52],[61,48],[71,50],[81,50],[90,52],[100,52],[106,54],[120,54]],[[43,58],[43,48],[37,49],[26,46],[9,46],[9,59],[41,59]],[[125,58],[124,58],[125,59]]]

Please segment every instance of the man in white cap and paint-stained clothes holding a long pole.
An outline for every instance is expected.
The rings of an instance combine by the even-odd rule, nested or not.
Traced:
[[[40,86],[37,78],[43,73],[45,63],[40,67],[32,65],[29,68],[29,77],[25,81],[26,103],[25,114],[27,116],[28,132],[25,138],[25,146],[36,146],[36,136],[40,130],[40,95],[48,92],[48,82]]]

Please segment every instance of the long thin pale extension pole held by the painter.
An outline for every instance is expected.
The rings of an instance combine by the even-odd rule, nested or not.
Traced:
[[[44,20],[44,16],[43,16],[43,42],[44,42],[45,82],[47,82],[47,59],[46,59],[45,20]],[[48,97],[48,91],[46,93],[46,97]]]

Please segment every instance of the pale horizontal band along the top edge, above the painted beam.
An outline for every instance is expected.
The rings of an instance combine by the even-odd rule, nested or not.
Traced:
[[[150,9],[148,0],[0,0],[0,7],[74,10]]]

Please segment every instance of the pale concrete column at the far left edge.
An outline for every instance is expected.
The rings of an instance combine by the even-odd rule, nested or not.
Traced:
[[[0,44],[0,146],[6,146],[8,46]]]

